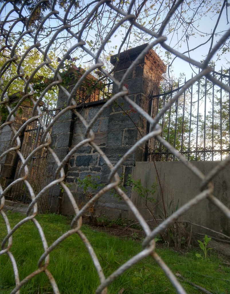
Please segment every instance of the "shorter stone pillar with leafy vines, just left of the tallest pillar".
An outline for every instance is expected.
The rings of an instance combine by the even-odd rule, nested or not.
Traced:
[[[78,68],[78,71],[81,74],[84,73],[84,69],[82,69],[82,68]],[[76,73],[75,68],[73,68],[73,71],[69,72],[69,74],[72,74],[73,80],[67,86],[68,91],[71,91],[73,86],[75,86],[75,84],[77,83],[78,78],[81,76],[81,74],[75,75],[75,73]],[[87,79],[90,79],[90,81],[97,80],[91,74],[88,74],[86,80]],[[95,90],[93,92],[95,95]],[[77,95],[86,95],[84,88],[80,87],[80,89],[77,91]],[[82,98],[84,98],[84,97],[82,97]],[[66,97],[65,93],[60,90],[58,93],[58,98],[57,98],[57,108],[64,109],[67,106],[67,99],[68,98]],[[81,108],[82,108],[82,106],[80,107],[80,110],[81,110]],[[81,114],[83,114],[83,113],[84,113],[84,110],[81,111]],[[55,125],[52,128],[52,131],[51,131],[52,143],[51,143],[50,147],[54,150],[54,152],[56,153],[56,155],[58,156],[60,161],[62,161],[62,159],[67,155],[67,153],[70,151],[72,145],[74,145],[76,143],[76,140],[74,142],[72,142],[72,141],[73,141],[73,135],[74,135],[74,133],[76,133],[75,128],[77,125],[79,125],[81,127],[81,129],[77,128],[77,130],[80,130],[80,133],[78,135],[79,135],[79,138],[81,141],[84,138],[84,131],[83,131],[84,126],[70,110],[65,112],[58,119],[58,121],[55,123]],[[73,159],[70,160],[70,163],[66,163],[64,166],[64,171],[66,174],[66,179],[64,181],[66,181],[67,183],[71,183],[71,181],[72,181],[72,180],[68,179],[68,175],[71,170],[70,164],[72,164],[72,161],[73,161]],[[51,182],[54,180],[53,176],[55,174],[56,168],[57,168],[57,164],[55,163],[55,159],[53,158],[52,155],[49,154],[48,165],[47,165],[47,170],[46,170],[46,172],[49,176],[48,182]],[[72,174],[75,176],[75,178],[79,176],[78,172],[72,173]],[[62,203],[63,203],[63,201],[68,201],[68,199],[67,198],[64,199],[65,197],[63,198],[63,193],[60,189],[60,185],[53,186],[49,190],[48,195],[50,198],[50,200],[49,200],[50,211],[53,213],[61,213],[62,212]],[[66,213],[65,207],[64,207],[64,213],[69,214],[69,213]]]

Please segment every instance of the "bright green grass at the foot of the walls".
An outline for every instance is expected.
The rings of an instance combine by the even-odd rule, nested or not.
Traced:
[[[11,228],[24,216],[8,213]],[[70,228],[70,219],[60,215],[38,215],[38,222],[43,227],[48,245]],[[106,276],[111,274],[125,261],[141,251],[141,244],[131,239],[109,236],[88,226],[82,227],[83,233],[92,244]],[[6,235],[4,220],[0,220],[0,240]],[[189,253],[177,253],[165,248],[156,250],[173,273],[180,273],[185,278],[212,293],[230,293],[230,283],[219,280],[230,279],[230,268],[221,263],[214,251],[209,252],[207,261],[195,256],[199,249]],[[22,225],[13,234],[11,252],[16,258],[19,276],[22,280],[37,269],[37,261],[43,253],[42,243],[35,225],[30,221]],[[210,256],[210,254],[212,254]],[[59,244],[50,253],[48,269],[53,274],[61,294],[91,294],[99,285],[99,278],[88,251],[75,234]],[[212,276],[208,278],[205,276]],[[181,282],[187,293],[201,293],[185,282]],[[0,293],[10,293],[14,286],[14,275],[8,255],[0,256]],[[118,294],[124,288],[124,294],[176,293],[155,261],[148,257],[127,270],[108,288],[108,293]],[[20,293],[53,293],[44,273],[30,280]]]

